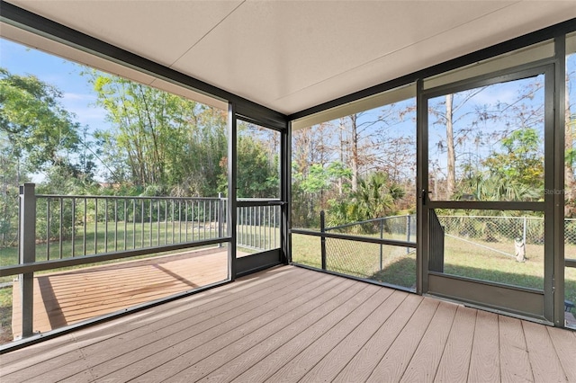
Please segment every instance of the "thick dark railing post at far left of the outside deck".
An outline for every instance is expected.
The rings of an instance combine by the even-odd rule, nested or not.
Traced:
[[[20,238],[18,253],[20,264],[36,262],[36,196],[34,183],[20,186]],[[20,274],[22,307],[22,337],[31,336],[33,323],[34,273]]]

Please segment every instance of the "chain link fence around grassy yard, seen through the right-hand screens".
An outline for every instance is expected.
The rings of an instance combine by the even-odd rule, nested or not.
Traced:
[[[516,256],[515,243],[528,254],[544,251],[544,218],[499,216],[438,216],[445,236],[456,244],[478,248],[479,254]],[[416,241],[414,215],[371,219],[338,227],[327,233]],[[541,255],[541,254],[538,254]],[[565,256],[576,258],[576,219],[565,220]],[[326,238],[326,268],[332,272],[412,288],[416,256],[413,248]]]

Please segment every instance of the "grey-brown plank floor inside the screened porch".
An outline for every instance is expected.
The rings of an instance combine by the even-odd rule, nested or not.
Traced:
[[[0,356],[21,381],[576,381],[576,333],[283,266]]]

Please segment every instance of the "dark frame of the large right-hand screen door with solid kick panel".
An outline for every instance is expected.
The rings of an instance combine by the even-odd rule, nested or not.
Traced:
[[[545,75],[545,190],[554,190],[554,60],[511,67],[487,75],[476,76],[451,84],[423,89],[417,84],[417,169],[418,198],[418,292],[441,298],[455,299],[473,307],[529,318],[541,323],[554,323],[554,193],[545,193],[544,201],[462,201],[430,200],[428,198],[428,100],[484,85],[495,85],[530,76]],[[430,219],[434,209],[499,209],[530,210],[545,213],[545,281],[544,289],[529,289],[503,283],[475,280],[430,270]],[[556,230],[557,231],[557,230]]]

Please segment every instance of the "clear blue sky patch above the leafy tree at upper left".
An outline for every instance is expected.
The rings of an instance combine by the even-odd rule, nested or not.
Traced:
[[[10,40],[0,39],[0,67],[14,75],[34,75],[63,94],[60,102],[76,114],[76,121],[89,126],[89,131],[106,129],[105,111],[94,105],[96,95],[81,76],[83,67],[64,58],[29,49]]]

